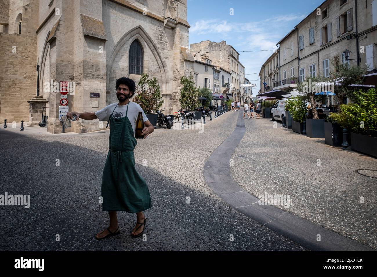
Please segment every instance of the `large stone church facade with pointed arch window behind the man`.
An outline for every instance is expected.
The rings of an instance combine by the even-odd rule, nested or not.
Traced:
[[[194,62],[187,0],[0,0],[0,7],[0,46],[7,49],[0,57],[0,120],[35,125],[45,106],[48,132],[60,133],[60,81],[70,82],[69,111],[95,112],[118,101],[117,78],[137,83],[141,72],[158,79],[167,114],[180,108],[180,79]],[[67,132],[105,126],[80,119]]]

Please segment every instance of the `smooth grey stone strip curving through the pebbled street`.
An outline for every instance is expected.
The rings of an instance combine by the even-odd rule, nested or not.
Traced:
[[[244,191],[230,174],[233,151],[245,134],[245,122],[239,113],[233,133],[216,148],[203,169],[204,180],[213,192],[235,210],[273,231],[313,251],[375,251],[348,237],[337,234],[273,205],[259,205],[259,198]],[[317,235],[320,234],[320,241]]]

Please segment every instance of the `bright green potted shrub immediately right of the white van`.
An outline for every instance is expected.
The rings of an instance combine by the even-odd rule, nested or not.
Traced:
[[[292,97],[287,100],[286,107],[292,115],[293,132],[302,134],[303,122],[306,119],[307,105],[301,96]]]

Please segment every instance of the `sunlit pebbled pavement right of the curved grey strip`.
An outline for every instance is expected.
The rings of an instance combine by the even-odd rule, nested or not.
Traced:
[[[277,207],[377,248],[377,179],[356,173],[377,169],[377,159],[273,124],[245,119],[244,138],[232,155],[234,180],[257,197],[289,195],[290,207]]]

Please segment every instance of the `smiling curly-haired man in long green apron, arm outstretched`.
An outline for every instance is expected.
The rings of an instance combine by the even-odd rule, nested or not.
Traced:
[[[76,116],[92,120],[99,119],[110,124],[109,152],[102,175],[101,196],[102,210],[109,211],[110,226],[96,235],[96,239],[104,239],[120,233],[116,211],[136,213],[136,226],[131,236],[139,237],[146,226],[143,211],[152,207],[150,194],[144,179],[135,168],[133,149],[136,146],[135,126],[138,112],[144,118],[144,138],[153,132],[153,125],[141,107],[129,99],[135,93],[135,82],[121,77],[116,80],[116,97],[119,103],[104,107],[94,113],[67,113],[68,118]]]

